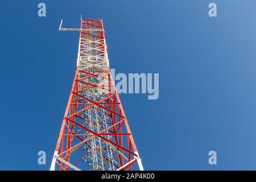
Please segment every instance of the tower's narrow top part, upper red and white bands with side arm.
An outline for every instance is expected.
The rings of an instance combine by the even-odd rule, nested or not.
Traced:
[[[108,52],[102,19],[81,18],[80,28],[62,28],[59,31],[80,31],[77,67],[79,69],[109,69]]]

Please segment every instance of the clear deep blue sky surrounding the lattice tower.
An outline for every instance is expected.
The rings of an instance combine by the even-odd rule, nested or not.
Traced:
[[[79,42],[57,29],[80,14],[104,20],[115,72],[159,73],[158,100],[120,95],[145,169],[256,169],[253,0],[1,2],[0,169],[49,169]]]

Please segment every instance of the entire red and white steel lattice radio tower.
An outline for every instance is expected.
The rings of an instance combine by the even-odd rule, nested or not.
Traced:
[[[81,18],[76,74],[57,138],[51,170],[143,170],[110,74],[101,19]]]

